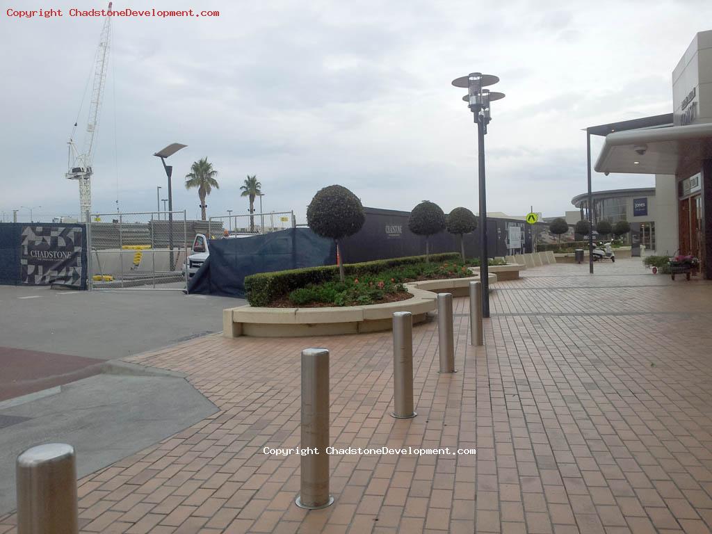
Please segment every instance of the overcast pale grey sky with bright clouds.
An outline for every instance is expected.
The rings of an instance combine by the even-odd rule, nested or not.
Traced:
[[[0,13],[4,162],[0,210],[77,214],[65,179],[103,23]],[[50,6],[46,6],[50,7]],[[114,9],[126,6],[121,1]],[[144,9],[214,9],[216,18],[112,19],[112,48],[94,158],[93,209],[146,211],[166,179],[152,156],[188,147],[174,165],[174,206],[199,216],[183,177],[208,157],[221,187],[209,214],[247,210],[239,186],[262,183],[265,211],[305,219],[321,187],[341,184],[365,206],[410,210],[428,199],[477,211],[476,128],[451,80],[496,74],[486,137],[489,211],[545,216],[586,189],[582,128],[672,111],[671,72],[708,0],[162,1]],[[89,95],[80,115],[83,138]],[[595,140],[593,157],[600,150]],[[648,187],[651,176],[594,174],[594,189]],[[22,209],[20,220],[28,218]],[[37,216],[35,216],[37,219]],[[7,220],[7,219],[6,219]]]

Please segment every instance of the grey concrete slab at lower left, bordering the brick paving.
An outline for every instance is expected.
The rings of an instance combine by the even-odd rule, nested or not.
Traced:
[[[78,476],[86,476],[216,411],[185,379],[123,374],[89,377],[0,409],[0,514],[16,508],[15,460],[30,446],[73,445]]]

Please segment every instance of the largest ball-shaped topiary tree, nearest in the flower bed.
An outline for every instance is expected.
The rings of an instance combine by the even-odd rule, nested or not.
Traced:
[[[339,240],[352,236],[361,229],[366,220],[358,197],[345,187],[330,185],[314,195],[307,208],[307,224],[322,237],[336,243],[339,277],[344,281],[344,264]]]

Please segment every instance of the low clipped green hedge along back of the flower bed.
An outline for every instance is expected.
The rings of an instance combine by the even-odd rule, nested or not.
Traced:
[[[460,255],[456,252],[430,255],[431,261],[458,260],[459,258]],[[425,261],[425,256],[347,263],[344,266],[344,271],[346,276],[358,278],[364,274],[376,274],[388,268],[421,263],[422,261]],[[247,301],[251,306],[267,306],[273,300],[288,295],[297,288],[303,288],[310,283],[335,280],[338,275],[339,267],[336,265],[252,274],[245,277]]]

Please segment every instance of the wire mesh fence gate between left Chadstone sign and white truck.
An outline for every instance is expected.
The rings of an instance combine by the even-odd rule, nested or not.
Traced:
[[[90,289],[185,290],[185,263],[208,221],[185,211],[92,214],[87,229]]]

